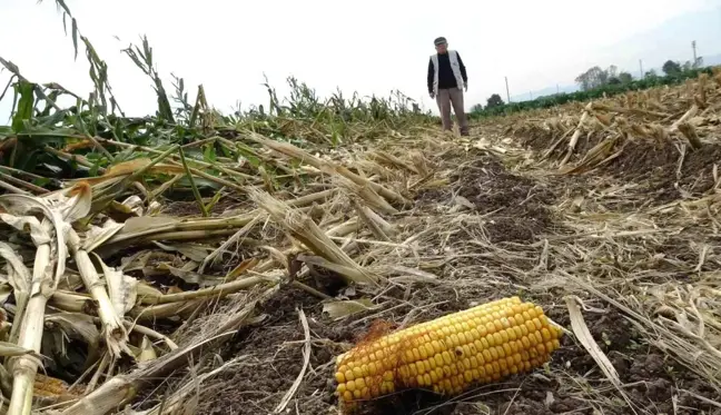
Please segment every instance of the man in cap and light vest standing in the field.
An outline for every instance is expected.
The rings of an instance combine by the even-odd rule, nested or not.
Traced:
[[[468,91],[465,66],[457,51],[448,50],[445,38],[437,38],[434,43],[437,53],[432,55],[428,62],[428,93],[438,103],[443,129],[447,131],[453,129],[453,121],[451,121],[451,106],[453,106],[461,135],[467,136],[468,121],[463,108],[463,90]]]

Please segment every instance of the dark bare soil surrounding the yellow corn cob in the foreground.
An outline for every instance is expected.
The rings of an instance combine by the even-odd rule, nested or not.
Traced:
[[[473,297],[461,295],[462,303],[448,305],[445,313],[463,309]],[[290,403],[292,413],[328,414],[337,404],[333,395],[333,367],[335,356],[343,352],[340,343],[358,340],[368,325],[350,327],[344,323],[329,322],[320,315],[316,298],[305,292],[285,288],[275,299],[263,308],[269,320],[263,329],[244,329],[229,343],[223,353],[224,359],[238,355],[250,355],[248,366],[236,372],[226,372],[201,393],[199,415],[220,414],[266,414],[290,388],[303,366],[303,329],[298,322],[296,307],[306,312],[314,342],[310,366]],[[554,322],[570,326],[567,314],[561,307],[549,308]],[[428,317],[432,318],[433,316]],[[703,396],[714,396],[704,382],[683,370],[674,362],[665,360],[663,355],[640,343],[633,327],[615,313],[586,314],[586,324],[603,352],[611,358],[614,367],[626,385],[632,402],[653,413],[673,414],[672,396],[678,389],[688,389]],[[289,343],[290,342],[290,343]],[[480,386],[464,395],[461,404],[450,402],[423,391],[405,391],[391,397],[360,405],[360,415],[480,415],[487,414],[593,414],[592,399],[596,393],[612,393],[597,365],[581,345],[564,336],[562,348],[557,350],[550,365],[555,373],[544,376],[517,376],[500,384]],[[559,375],[563,373],[564,375]],[[577,385],[586,384],[587,395],[579,395]],[[595,391],[595,392],[594,392]],[[688,395],[679,396],[680,409],[676,414],[717,414],[714,407],[699,404]],[[610,406],[611,403],[611,406]],[[681,405],[681,403],[683,405]],[[629,414],[623,402],[605,402],[604,414]]]

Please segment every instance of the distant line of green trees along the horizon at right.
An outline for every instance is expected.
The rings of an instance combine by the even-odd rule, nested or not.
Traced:
[[[614,65],[602,69],[597,66],[589,68],[575,78],[580,90],[572,93],[554,93],[539,97],[533,100],[522,102],[503,101],[498,93],[493,93],[486,105],[477,103],[471,108],[471,118],[483,118],[498,115],[508,115],[530,109],[550,108],[572,101],[585,101],[589,99],[613,96],[631,90],[648,89],[663,85],[676,85],[689,78],[695,78],[701,72],[711,75],[711,68],[703,67],[703,58],[698,58],[695,62],[687,61],[684,63],[668,60],[662,67],[663,75],[658,75],[655,70],[649,70],[643,78],[634,79],[631,73],[619,71]]]

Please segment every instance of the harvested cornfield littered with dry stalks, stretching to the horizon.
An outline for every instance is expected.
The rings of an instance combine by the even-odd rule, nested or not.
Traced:
[[[547,365],[356,413],[721,414],[720,70],[461,138],[295,79],[221,115],[147,42],[126,117],[80,40],[91,98],[0,59],[2,413],[337,413],[354,344],[518,296],[565,329]]]

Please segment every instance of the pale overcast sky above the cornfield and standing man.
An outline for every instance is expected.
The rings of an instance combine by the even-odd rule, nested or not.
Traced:
[[[210,103],[230,111],[267,102],[260,86],[265,72],[283,93],[289,75],[322,95],[336,86],[344,92],[383,95],[399,89],[425,108],[428,56],[433,39],[445,36],[468,71],[466,107],[493,92],[511,95],[555,83],[573,83],[590,66],[615,63],[638,68],[638,55],[652,65],[666,58],[685,60],[690,36],[659,33],[655,51],[639,51],[628,39],[688,13],[715,13],[721,0],[66,0],[80,31],[109,65],[110,81],[128,115],[154,112],[149,80],[120,53],[147,34],[157,67],[203,83]],[[53,0],[1,0],[0,56],[38,82],[56,81],[77,93],[91,90],[85,56],[73,61],[72,42],[62,31]],[[120,40],[116,39],[118,37]],[[714,40],[717,40],[715,38]],[[645,39],[646,41],[649,39]],[[700,55],[721,52],[721,45],[699,40]],[[666,46],[668,45],[668,46]],[[718,45],[718,46],[717,46]],[[713,50],[715,49],[715,50]],[[609,61],[613,60],[613,61]],[[655,61],[654,61],[655,60]],[[0,73],[0,88],[8,80]],[[6,123],[10,100],[0,102]]]

